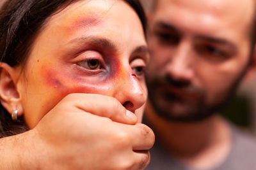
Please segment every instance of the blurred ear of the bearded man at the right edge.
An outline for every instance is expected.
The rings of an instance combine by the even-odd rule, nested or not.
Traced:
[[[246,71],[246,74],[244,75],[244,81],[252,80],[252,78],[255,76],[255,70],[256,70],[256,45],[254,45],[254,49],[252,52],[252,59],[250,60],[250,63],[248,65],[248,69]]]

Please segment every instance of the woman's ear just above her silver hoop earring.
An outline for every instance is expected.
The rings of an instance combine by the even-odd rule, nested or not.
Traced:
[[[0,62],[0,102],[11,115],[13,111],[17,110],[18,116],[21,116],[23,107],[17,89],[19,76],[20,68]]]

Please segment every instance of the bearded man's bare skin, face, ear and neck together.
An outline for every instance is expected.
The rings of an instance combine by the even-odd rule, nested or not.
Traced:
[[[229,126],[207,115],[252,74],[253,6],[250,0],[161,0],[148,15],[152,104],[145,116],[166,150],[186,166],[211,169],[230,152]]]

